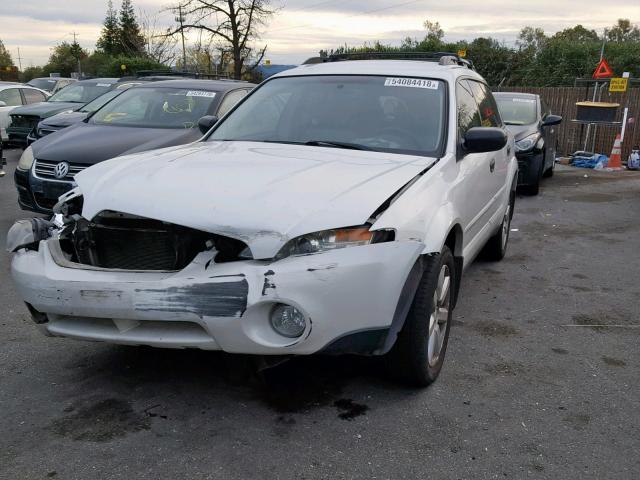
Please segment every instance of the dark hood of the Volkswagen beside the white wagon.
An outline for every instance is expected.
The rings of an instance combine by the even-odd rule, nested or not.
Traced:
[[[119,155],[143,152],[198,140],[197,128],[135,128],[79,122],[33,144],[41,160],[93,165]]]

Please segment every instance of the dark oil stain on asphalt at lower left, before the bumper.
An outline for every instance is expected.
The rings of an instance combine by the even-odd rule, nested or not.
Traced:
[[[73,440],[108,442],[150,427],[144,413],[135,412],[129,402],[117,398],[66,410],[71,414],[54,420],[49,429]]]

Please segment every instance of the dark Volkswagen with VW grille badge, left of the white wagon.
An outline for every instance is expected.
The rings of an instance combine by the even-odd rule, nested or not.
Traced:
[[[28,147],[15,171],[18,203],[50,213],[83,169],[119,155],[198,140],[254,85],[214,80],[147,83],[118,95],[86,120]]]

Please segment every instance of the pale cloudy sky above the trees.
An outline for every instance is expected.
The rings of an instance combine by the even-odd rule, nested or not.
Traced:
[[[133,0],[137,11],[169,26],[172,0]],[[173,2],[175,3],[175,2]],[[93,50],[100,35],[107,0],[0,0],[0,39],[22,67],[46,63],[62,41]],[[116,7],[119,0],[114,0]],[[525,25],[555,33],[583,24],[602,31],[618,18],[640,23],[639,0],[274,0],[279,7],[261,29],[261,45],[274,64],[297,64],[320,49],[379,40],[399,44],[424,36],[423,22],[438,21],[450,41],[491,36],[515,43]],[[191,40],[195,39],[195,35]]]

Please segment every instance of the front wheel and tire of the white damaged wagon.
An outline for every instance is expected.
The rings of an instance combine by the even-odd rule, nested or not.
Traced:
[[[385,359],[396,380],[426,387],[438,378],[449,341],[456,279],[449,248],[428,258],[404,327]]]

